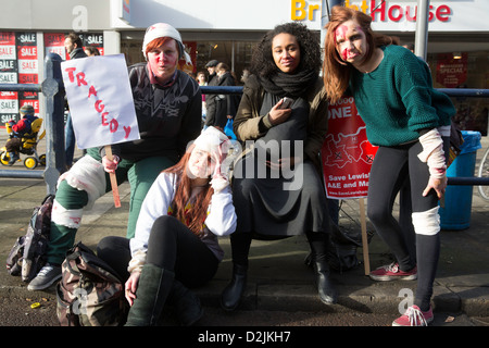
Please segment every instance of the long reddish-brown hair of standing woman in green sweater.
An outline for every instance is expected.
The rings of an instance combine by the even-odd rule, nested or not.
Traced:
[[[374,50],[379,46],[399,45],[399,38],[374,33],[371,28],[372,17],[361,11],[336,5],[331,9],[329,23],[325,28],[326,38],[324,47],[323,78],[326,92],[331,103],[337,102],[344,94],[350,83],[351,64],[341,60],[336,50],[336,29],[342,23],[354,20],[362,27],[366,36],[368,51],[365,61],[369,60]]]

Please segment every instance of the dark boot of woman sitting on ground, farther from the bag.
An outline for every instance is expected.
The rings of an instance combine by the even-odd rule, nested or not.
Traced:
[[[174,311],[183,326],[193,325],[203,315],[199,297],[177,279],[173,281],[168,304],[174,307]]]

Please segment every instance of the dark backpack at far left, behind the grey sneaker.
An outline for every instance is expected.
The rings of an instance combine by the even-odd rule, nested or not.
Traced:
[[[7,271],[24,282],[30,282],[46,264],[53,201],[54,195],[48,195],[34,208],[27,233],[17,238],[7,258]]]

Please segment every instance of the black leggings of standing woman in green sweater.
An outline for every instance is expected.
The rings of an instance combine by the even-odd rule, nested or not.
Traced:
[[[448,139],[443,138],[447,144]],[[378,235],[393,252],[399,268],[409,271],[417,261],[417,290],[414,303],[422,310],[429,308],[432,283],[440,252],[440,237],[416,232],[416,259],[412,260],[401,226],[392,215],[396,197],[409,177],[412,212],[425,212],[438,206],[435,190],[423,197],[429,181],[428,165],[417,158],[423,151],[419,141],[397,147],[379,147],[368,182],[367,215]],[[402,201],[401,201],[402,203]]]

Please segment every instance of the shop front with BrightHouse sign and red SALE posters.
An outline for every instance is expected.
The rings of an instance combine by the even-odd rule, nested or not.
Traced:
[[[143,61],[146,28],[167,22],[181,34],[197,73],[210,60],[227,63],[238,84],[249,66],[253,46],[275,25],[299,21],[322,34],[322,0],[54,0],[15,7],[0,0],[0,83],[39,83],[49,52],[65,58],[70,32],[97,46],[103,54],[124,53],[127,64]],[[414,42],[416,0],[346,0],[373,17],[375,30]],[[427,62],[435,87],[489,88],[489,26],[487,0],[430,0]],[[7,13],[7,14],[5,14]],[[20,18],[23,18],[22,21]],[[188,66],[187,66],[188,69]],[[1,92],[1,123],[38,96]],[[454,98],[455,120],[463,129],[487,135],[487,98]],[[41,104],[41,103],[40,103]]]

